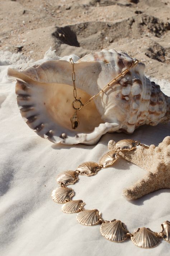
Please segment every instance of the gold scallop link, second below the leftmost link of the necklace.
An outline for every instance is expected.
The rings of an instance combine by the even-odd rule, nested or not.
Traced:
[[[76,219],[82,225],[94,226],[100,222],[100,215],[101,212],[97,209],[84,210],[77,214]]]

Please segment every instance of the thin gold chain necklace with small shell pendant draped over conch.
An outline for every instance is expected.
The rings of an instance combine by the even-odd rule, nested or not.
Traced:
[[[73,82],[73,96],[74,96],[74,100],[72,102],[72,108],[75,110],[73,116],[70,118],[72,129],[76,129],[79,126],[79,121],[77,118],[77,111],[80,111],[80,109],[82,107],[88,105],[90,102],[95,100],[99,96],[100,93],[103,93],[105,90],[107,90],[109,88],[109,86],[111,86],[115,81],[117,81],[119,78],[124,76],[129,71],[129,69],[132,68],[134,65],[136,65],[138,62],[139,62],[139,60],[135,60],[129,68],[123,70],[118,76],[116,76],[107,85],[105,85],[103,87],[103,89],[101,91],[99,91],[98,94],[92,96],[88,101],[86,101],[83,104],[80,100],[81,98],[77,99],[77,90],[76,90],[76,85],[75,85],[76,75],[75,75],[75,71],[74,71],[74,61],[72,58],[70,58],[70,63],[72,64],[72,82]],[[79,103],[80,107],[76,108],[74,105],[75,103]]]

